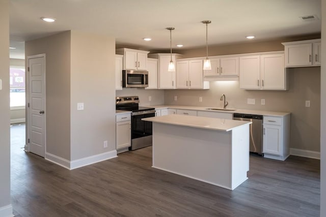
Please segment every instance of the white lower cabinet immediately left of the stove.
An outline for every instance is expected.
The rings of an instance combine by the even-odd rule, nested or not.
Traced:
[[[116,149],[119,152],[131,146],[131,114],[116,114]],[[119,151],[121,150],[122,151]]]

